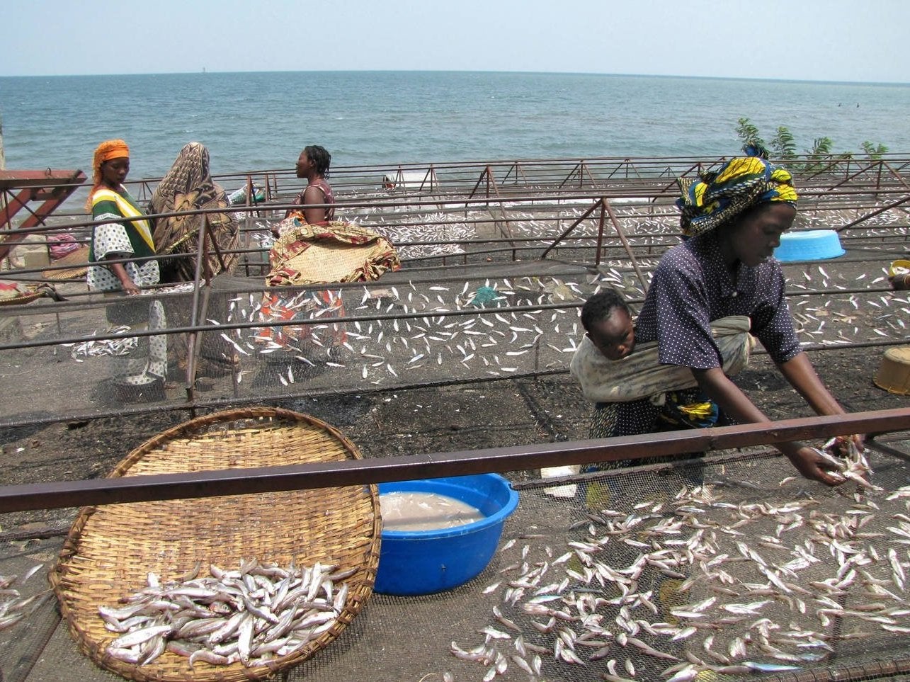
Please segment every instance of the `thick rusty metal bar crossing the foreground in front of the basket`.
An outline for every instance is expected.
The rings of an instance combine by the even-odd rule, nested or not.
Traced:
[[[281,411],[278,411],[280,414]],[[88,481],[8,485],[0,488],[0,513],[86,504],[122,504],[230,494],[260,494],[338,485],[511,472],[704,450],[783,443],[844,433],[889,433],[910,428],[910,408],[738,424],[713,429],[644,433],[602,440],[519,445],[454,453],[413,454],[347,462],[308,463],[165,473]]]

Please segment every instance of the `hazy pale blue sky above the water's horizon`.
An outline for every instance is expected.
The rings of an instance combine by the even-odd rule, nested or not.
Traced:
[[[906,0],[5,0],[0,16],[0,76],[206,68],[910,81]]]

